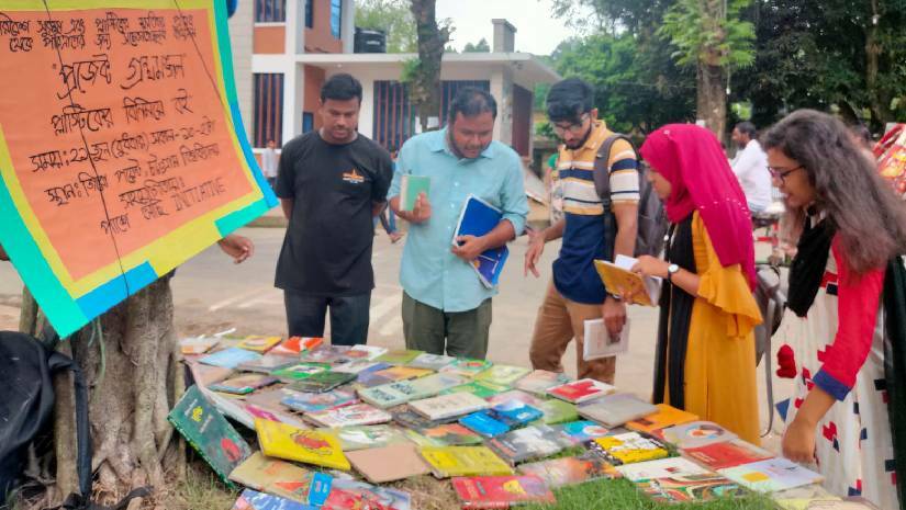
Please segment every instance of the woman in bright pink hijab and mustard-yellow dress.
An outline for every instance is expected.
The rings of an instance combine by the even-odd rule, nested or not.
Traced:
[[[758,444],[753,329],[761,314],[746,196],[705,128],[661,127],[641,156],[671,223],[665,260],[645,256],[634,268],[663,279],[653,400]]]

